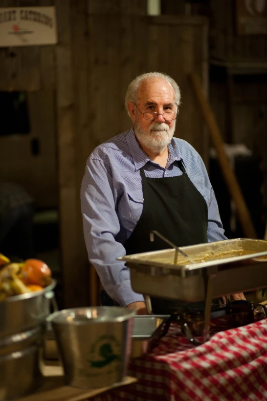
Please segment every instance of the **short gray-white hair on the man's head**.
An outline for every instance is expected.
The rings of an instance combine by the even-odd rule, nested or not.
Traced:
[[[163,78],[165,79],[167,82],[170,83],[170,85],[172,86],[173,90],[174,90],[174,94],[175,94],[175,98],[174,101],[177,104],[177,106],[180,105],[181,102],[181,91],[179,89],[179,86],[177,85],[177,83],[174,81],[173,78],[171,78],[169,75],[167,74],[163,74],[161,72],[146,72],[142,75],[139,75],[138,77],[136,77],[135,79],[133,79],[133,81],[130,82],[126,95],[125,95],[125,109],[127,110],[128,116],[131,117],[129,111],[128,111],[128,103],[136,103],[137,102],[137,93],[138,93],[138,89],[140,86],[140,83],[143,81],[147,81],[151,78]]]

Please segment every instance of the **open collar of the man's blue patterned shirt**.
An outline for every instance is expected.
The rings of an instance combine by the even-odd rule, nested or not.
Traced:
[[[147,157],[147,155],[143,151],[142,147],[139,145],[139,143],[136,139],[136,136],[135,136],[135,131],[133,130],[133,126],[128,131],[126,141],[128,143],[131,157],[132,157],[133,163],[135,164],[135,167],[136,167],[136,171],[138,171],[138,170],[140,170],[140,168],[144,167],[144,165],[147,162],[151,162],[151,160]],[[181,156],[179,154],[177,144],[173,138],[170,141],[170,143],[168,144],[168,151],[169,151],[169,158],[168,158],[167,167],[169,167],[169,165],[171,163],[173,163],[174,161],[181,160]]]

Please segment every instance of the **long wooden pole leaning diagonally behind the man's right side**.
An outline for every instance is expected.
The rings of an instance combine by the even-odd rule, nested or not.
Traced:
[[[220,168],[222,171],[222,175],[224,176],[224,179],[228,186],[229,193],[236,204],[237,214],[240,219],[243,233],[248,238],[257,238],[257,234],[256,234],[255,228],[253,226],[253,223],[252,223],[252,220],[251,220],[251,217],[249,214],[249,210],[244,201],[244,198],[241,193],[241,189],[237,182],[235,174],[232,171],[231,165],[229,163],[228,157],[227,157],[225,149],[224,149],[224,142],[221,139],[221,135],[220,135],[219,128],[216,123],[214,114],[212,113],[212,111],[210,109],[210,105],[203,93],[201,82],[200,82],[198,76],[194,73],[191,74],[191,80],[193,83],[196,98],[198,100],[199,108],[202,111],[203,117],[208,126],[208,130],[209,130],[211,139],[213,141],[213,145],[214,145],[216,153],[217,153],[217,157],[218,157],[218,161],[219,161]]]

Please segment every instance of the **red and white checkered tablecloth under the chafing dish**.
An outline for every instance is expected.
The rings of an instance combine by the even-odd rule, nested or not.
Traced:
[[[95,401],[267,400],[267,320],[220,331],[195,347],[173,324],[148,354],[133,359],[138,382]]]

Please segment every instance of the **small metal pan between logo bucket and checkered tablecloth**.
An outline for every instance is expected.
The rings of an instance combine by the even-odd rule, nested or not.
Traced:
[[[131,357],[139,357],[153,348],[168,318],[169,315],[137,315],[133,318]]]

